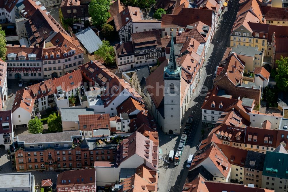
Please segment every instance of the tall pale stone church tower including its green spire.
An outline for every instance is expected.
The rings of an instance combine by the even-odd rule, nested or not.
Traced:
[[[162,127],[165,133],[180,133],[180,98],[181,98],[181,68],[177,66],[173,33],[171,37],[170,57],[168,66],[164,68],[164,114],[165,123]]]

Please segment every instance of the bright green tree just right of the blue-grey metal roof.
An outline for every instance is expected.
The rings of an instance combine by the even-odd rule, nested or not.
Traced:
[[[107,65],[111,65],[115,61],[115,52],[113,46],[109,44],[109,41],[103,40],[99,49],[94,52],[98,58],[103,58]]]

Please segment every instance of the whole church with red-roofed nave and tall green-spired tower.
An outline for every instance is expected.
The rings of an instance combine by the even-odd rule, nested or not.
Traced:
[[[144,99],[164,133],[180,133],[181,119],[200,80],[203,55],[192,57],[190,52],[176,58],[172,35],[169,59],[146,79]]]

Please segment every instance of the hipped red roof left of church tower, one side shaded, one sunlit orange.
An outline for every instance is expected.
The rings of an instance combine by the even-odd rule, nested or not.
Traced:
[[[135,110],[145,110],[145,104],[139,100],[134,99],[133,97],[128,97],[125,101],[123,101],[117,108],[117,113],[127,113],[130,114]]]

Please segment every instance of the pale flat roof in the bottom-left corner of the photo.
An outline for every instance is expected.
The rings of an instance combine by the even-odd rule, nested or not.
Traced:
[[[30,187],[31,173],[0,174],[0,189],[12,187]]]

